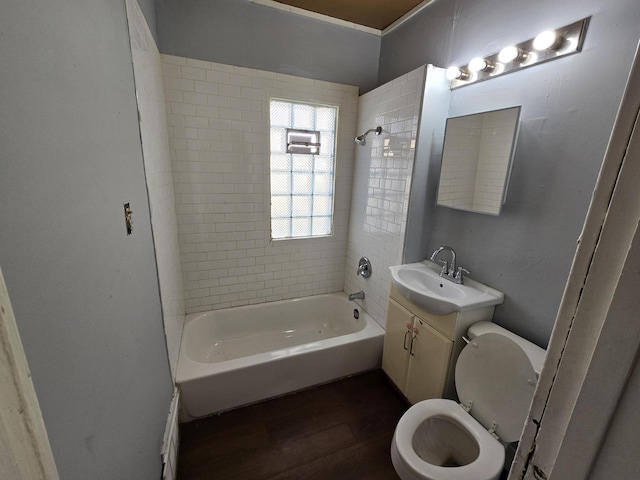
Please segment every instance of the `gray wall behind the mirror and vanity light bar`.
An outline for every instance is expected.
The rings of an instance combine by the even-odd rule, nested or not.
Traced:
[[[439,0],[382,42],[386,82],[424,63],[465,64],[590,15],[582,53],[452,92],[450,116],[522,105],[507,203],[499,217],[434,207],[439,160],[432,161],[424,249],[407,258],[453,246],[472,277],[505,292],[497,323],[542,346],[640,37],[640,3]]]

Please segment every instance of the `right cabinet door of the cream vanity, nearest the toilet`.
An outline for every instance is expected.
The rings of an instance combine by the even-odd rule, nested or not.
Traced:
[[[442,398],[453,342],[415,317],[405,395],[413,404]]]

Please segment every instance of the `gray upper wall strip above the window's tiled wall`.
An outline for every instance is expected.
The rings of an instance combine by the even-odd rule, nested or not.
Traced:
[[[161,53],[376,86],[380,37],[248,0],[159,0]]]

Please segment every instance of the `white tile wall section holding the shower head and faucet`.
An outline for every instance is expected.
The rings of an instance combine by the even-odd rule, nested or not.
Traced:
[[[358,133],[378,125],[383,131],[356,147],[345,291],[363,290],[359,302],[383,327],[389,267],[402,263],[424,76],[420,67],[360,97]],[[367,279],[356,275],[362,256],[373,266]]]

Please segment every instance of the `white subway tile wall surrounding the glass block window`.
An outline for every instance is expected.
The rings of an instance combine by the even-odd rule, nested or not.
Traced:
[[[161,57],[187,313],[342,291],[357,87]],[[270,239],[270,98],[339,107],[331,237]]]

